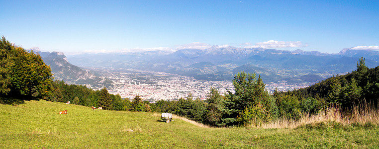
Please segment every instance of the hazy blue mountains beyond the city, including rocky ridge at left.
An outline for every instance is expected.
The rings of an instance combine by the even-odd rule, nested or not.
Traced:
[[[346,74],[355,70],[361,57],[366,59],[369,68],[379,66],[379,51],[350,48],[328,54],[212,46],[205,50],[97,53],[71,55],[68,58],[60,52],[35,49],[34,52],[38,52],[43,61],[50,65],[54,77],[77,84],[97,84],[95,86],[110,82],[98,77],[95,72],[77,66],[166,72],[200,80],[232,80],[235,74],[245,71],[257,73],[264,82],[284,80],[287,83],[315,82],[335,74]]]

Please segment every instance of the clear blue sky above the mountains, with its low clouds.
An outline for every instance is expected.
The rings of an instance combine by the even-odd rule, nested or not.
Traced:
[[[379,50],[379,1],[0,0],[0,36],[65,54],[212,45]]]

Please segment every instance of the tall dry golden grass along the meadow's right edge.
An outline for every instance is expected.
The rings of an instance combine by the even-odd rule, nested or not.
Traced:
[[[364,105],[354,106],[351,112],[342,112],[340,107],[328,107],[321,109],[317,114],[310,115],[304,113],[299,121],[279,119],[272,123],[262,124],[262,128],[297,128],[313,123],[336,122],[342,125],[372,123],[379,125],[379,105],[373,106],[365,103]],[[252,126],[253,127],[253,126]]]

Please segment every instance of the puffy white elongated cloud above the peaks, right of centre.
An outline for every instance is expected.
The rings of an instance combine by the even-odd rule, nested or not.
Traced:
[[[269,40],[264,42],[255,43],[243,43],[241,45],[246,45],[245,48],[292,48],[292,47],[306,47],[308,45],[303,45],[301,41],[276,41]]]

